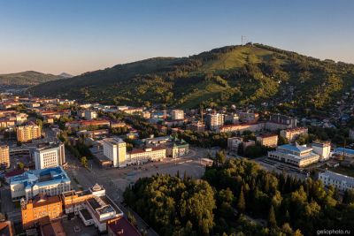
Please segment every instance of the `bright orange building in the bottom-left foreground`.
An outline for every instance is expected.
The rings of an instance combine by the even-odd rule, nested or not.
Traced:
[[[50,220],[63,216],[63,205],[59,196],[38,194],[33,200],[21,202],[22,225],[27,229],[49,217]]]

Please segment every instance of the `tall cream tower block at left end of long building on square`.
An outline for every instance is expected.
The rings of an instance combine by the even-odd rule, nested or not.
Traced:
[[[113,162],[114,167],[126,166],[127,144],[119,138],[104,139],[104,156]]]

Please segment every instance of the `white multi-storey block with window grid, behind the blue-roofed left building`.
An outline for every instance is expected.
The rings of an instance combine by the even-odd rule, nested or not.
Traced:
[[[50,143],[49,145],[35,148],[35,169],[57,167],[65,164],[65,148],[61,142]]]

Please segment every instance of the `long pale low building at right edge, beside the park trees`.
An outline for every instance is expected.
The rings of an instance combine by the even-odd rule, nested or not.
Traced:
[[[354,188],[354,178],[333,171],[319,173],[319,179],[325,186],[334,186],[342,191]]]

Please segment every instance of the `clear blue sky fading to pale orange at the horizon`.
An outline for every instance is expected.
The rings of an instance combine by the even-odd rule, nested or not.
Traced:
[[[0,73],[58,74],[259,42],[354,64],[351,0],[0,0]]]

